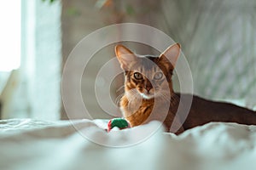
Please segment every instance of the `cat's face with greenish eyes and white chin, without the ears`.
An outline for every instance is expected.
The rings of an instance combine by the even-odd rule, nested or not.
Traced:
[[[137,57],[130,71],[125,71],[125,93],[140,94],[143,99],[152,99],[168,93],[172,72],[160,68],[159,58]],[[170,90],[169,90],[170,91]]]

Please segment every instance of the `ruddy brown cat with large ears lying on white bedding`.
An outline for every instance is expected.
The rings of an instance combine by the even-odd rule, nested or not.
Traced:
[[[193,94],[178,94],[172,88],[172,72],[179,57],[181,46],[175,43],[160,56],[141,56],[118,44],[115,54],[125,72],[125,94],[119,106],[131,127],[158,120],[167,132],[180,134],[185,130],[208,122],[236,122],[256,125],[256,112],[230,103],[202,99]],[[183,95],[183,100],[181,99]],[[176,116],[179,105],[192,104],[182,122]],[[165,114],[166,113],[166,114]],[[174,130],[171,127],[175,127]]]

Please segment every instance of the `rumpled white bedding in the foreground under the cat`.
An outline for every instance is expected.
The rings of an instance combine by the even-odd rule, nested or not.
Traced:
[[[108,120],[0,122],[0,169],[255,169],[256,126],[211,122],[176,136],[160,122],[107,133]]]

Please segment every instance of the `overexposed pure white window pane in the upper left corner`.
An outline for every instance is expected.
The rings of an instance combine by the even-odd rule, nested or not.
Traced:
[[[1,1],[0,71],[20,67],[21,0]]]

